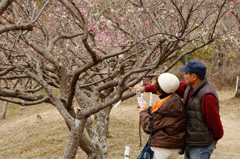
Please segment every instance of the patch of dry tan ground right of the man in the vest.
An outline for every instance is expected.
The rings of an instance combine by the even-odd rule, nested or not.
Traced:
[[[234,91],[232,91],[234,92]],[[224,128],[224,136],[219,140],[213,159],[240,158],[240,100],[234,93],[219,92],[220,115]]]

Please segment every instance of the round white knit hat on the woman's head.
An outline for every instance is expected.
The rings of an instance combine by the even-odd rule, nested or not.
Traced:
[[[174,93],[179,86],[179,79],[171,73],[162,73],[158,77],[158,84],[165,93]]]

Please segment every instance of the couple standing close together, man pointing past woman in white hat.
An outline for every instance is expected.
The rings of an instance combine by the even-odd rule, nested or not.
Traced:
[[[160,98],[153,107],[143,101],[144,107],[139,109],[141,126],[149,134],[149,117],[153,117],[153,159],[177,159],[180,149],[185,149],[184,159],[208,159],[223,136],[218,96],[205,77],[202,62],[190,60],[180,71],[185,73],[185,82],[162,73],[155,77],[154,85],[130,88]]]

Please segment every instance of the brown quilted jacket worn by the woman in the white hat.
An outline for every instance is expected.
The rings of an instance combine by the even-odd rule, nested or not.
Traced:
[[[152,147],[178,149],[184,147],[186,111],[181,98],[173,94],[153,114],[152,107],[140,113],[141,126],[147,134],[151,133],[151,120],[153,117]]]

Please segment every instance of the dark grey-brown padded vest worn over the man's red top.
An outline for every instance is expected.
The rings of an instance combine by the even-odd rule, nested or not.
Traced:
[[[202,115],[201,103],[206,94],[212,94],[217,99],[219,110],[218,96],[207,78],[193,90],[188,101],[190,89],[191,87],[188,85],[183,96],[184,105],[187,106],[186,146],[209,146],[214,138]]]

